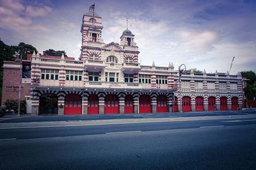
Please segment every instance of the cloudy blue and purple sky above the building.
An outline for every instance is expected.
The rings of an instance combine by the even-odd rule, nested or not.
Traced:
[[[60,1],[0,0],[0,38],[8,45],[29,43],[42,53],[65,50],[79,58],[84,13],[95,3],[104,43],[135,35],[141,65],[184,63],[208,73],[256,70],[256,0],[234,1]]]

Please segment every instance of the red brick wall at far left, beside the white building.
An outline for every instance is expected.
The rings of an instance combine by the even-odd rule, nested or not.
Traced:
[[[8,99],[19,99],[20,70],[14,68],[4,68],[3,72],[3,92],[2,103]],[[30,83],[22,83],[20,97],[25,100],[25,96],[30,96]]]

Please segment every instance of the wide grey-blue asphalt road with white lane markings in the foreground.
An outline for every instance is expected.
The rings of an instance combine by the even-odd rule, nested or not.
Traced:
[[[0,128],[0,169],[256,169],[256,115],[168,119]]]

